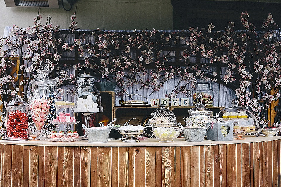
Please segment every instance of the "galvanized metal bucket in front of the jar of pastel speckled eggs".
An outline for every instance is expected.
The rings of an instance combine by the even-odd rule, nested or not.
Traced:
[[[182,128],[185,141],[203,141],[207,128]]]

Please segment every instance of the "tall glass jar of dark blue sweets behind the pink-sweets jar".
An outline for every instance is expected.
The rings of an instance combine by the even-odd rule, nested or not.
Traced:
[[[47,117],[47,121],[45,122],[44,128],[55,128],[55,125],[49,123],[49,120],[54,120],[56,119],[56,107],[54,106],[55,101],[56,101],[56,79],[53,79],[53,77],[51,76],[52,70],[49,67],[49,60],[46,60],[46,64],[45,64],[45,69],[43,70],[44,74],[45,74],[45,78],[50,81],[49,86],[47,87],[47,97],[50,101],[50,110],[49,110],[49,114]]]

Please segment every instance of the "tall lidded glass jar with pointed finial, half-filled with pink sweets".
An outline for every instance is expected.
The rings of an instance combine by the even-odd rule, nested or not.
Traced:
[[[30,98],[30,113],[36,128],[41,130],[44,126],[50,110],[50,100],[47,97],[47,88],[50,81],[44,78],[42,62],[39,66],[37,78],[30,81],[33,88],[33,96]]]

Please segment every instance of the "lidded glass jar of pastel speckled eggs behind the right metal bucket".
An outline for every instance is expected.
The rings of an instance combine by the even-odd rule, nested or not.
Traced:
[[[189,117],[186,117],[186,126],[206,127],[207,123],[213,121],[213,111],[206,108],[206,104],[202,103],[202,99],[202,93],[199,93],[198,104],[195,104],[195,108],[188,111]]]

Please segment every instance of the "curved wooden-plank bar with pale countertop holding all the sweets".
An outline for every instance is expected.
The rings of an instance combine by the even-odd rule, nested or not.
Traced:
[[[280,138],[194,145],[0,141],[0,186],[281,186]]]

